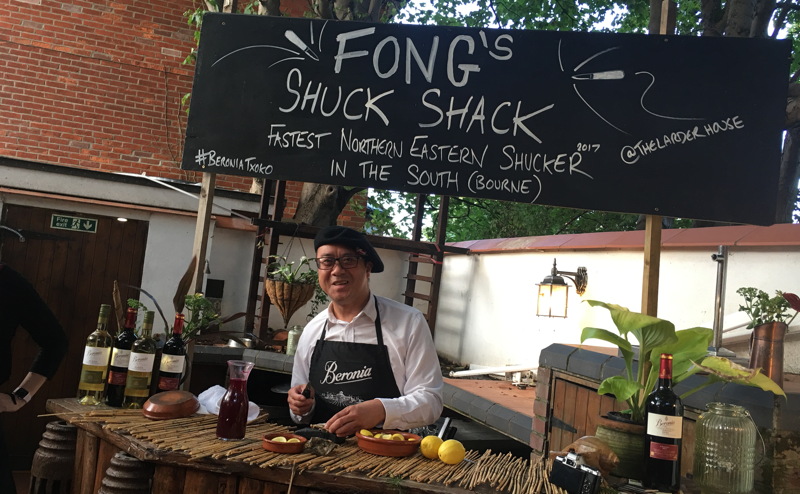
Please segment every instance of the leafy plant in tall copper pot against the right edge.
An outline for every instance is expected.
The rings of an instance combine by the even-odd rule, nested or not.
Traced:
[[[765,291],[742,287],[736,293],[744,298],[739,310],[747,314],[750,335],[750,367],[759,368],[775,382],[783,385],[783,338],[800,311],[800,297],[776,291],[770,297]],[[791,314],[790,310],[794,310]]]

